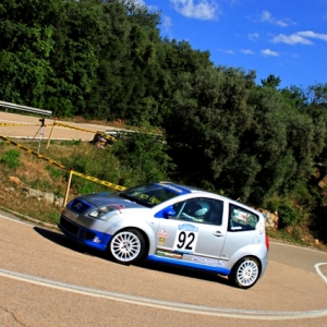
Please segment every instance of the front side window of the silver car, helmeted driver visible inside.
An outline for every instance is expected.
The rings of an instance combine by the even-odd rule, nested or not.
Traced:
[[[190,198],[173,205],[175,216],[172,218],[219,226],[222,221],[222,201],[206,197]]]

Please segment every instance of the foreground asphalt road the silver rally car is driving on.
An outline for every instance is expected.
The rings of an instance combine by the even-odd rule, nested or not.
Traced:
[[[240,290],[217,276],[122,266],[5,213],[0,231],[0,326],[327,325],[324,252],[272,243],[265,276]]]

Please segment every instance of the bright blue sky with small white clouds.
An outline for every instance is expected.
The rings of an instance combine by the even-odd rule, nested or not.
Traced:
[[[209,51],[215,65],[270,74],[279,87],[327,84],[327,0],[136,0],[161,11],[161,37]]]

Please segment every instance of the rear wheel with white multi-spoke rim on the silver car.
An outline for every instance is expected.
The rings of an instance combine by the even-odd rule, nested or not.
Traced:
[[[233,267],[230,281],[241,289],[253,287],[261,276],[259,262],[251,256],[243,257]]]

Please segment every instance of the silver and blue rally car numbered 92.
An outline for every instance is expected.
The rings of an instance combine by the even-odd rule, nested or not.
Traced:
[[[237,201],[170,182],[71,201],[60,229],[120,264],[141,259],[255,284],[268,264],[264,216]]]

